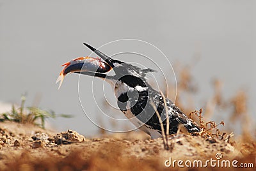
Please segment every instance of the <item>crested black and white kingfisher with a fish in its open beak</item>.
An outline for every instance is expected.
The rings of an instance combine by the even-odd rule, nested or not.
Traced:
[[[115,72],[115,75],[104,74],[103,72],[108,71],[107,69],[106,71],[91,71],[88,68],[84,69],[82,65],[84,64],[84,59],[88,59],[88,57],[80,57],[77,58],[78,60],[73,60],[76,61],[76,64],[73,64],[72,67],[70,66],[72,70],[65,72],[70,65],[70,63],[66,63],[66,67],[62,73],[67,74],[69,72],[74,72],[99,77],[113,85],[120,110],[137,128],[140,128],[140,130],[150,135],[153,139],[162,137],[161,124],[159,123],[159,117],[156,114],[156,110],[159,115],[161,115],[164,130],[167,128],[166,119],[168,118],[170,134],[177,133],[180,124],[184,126],[189,133],[200,131],[199,126],[189,119],[180,108],[168,98],[165,99],[168,109],[166,112],[163,96],[161,96],[159,91],[153,89],[147,82],[147,73],[154,70],[149,68],[141,69],[138,66],[111,59],[111,57],[106,56],[92,46],[86,43],[84,43],[84,45],[104,60],[100,61],[100,59],[97,58],[96,61],[99,66],[103,69],[108,68],[108,70],[110,66]],[[86,61],[86,63],[88,63],[88,61]],[[62,82],[63,75],[60,74],[60,77],[61,78],[58,78],[58,80],[61,80]],[[166,114],[168,114],[168,117]]]

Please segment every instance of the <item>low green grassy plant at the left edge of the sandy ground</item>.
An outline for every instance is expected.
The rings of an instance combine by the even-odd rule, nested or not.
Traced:
[[[52,110],[42,110],[38,107],[25,107],[26,96],[21,96],[20,107],[16,108],[12,105],[11,112],[0,114],[0,121],[14,121],[17,123],[31,123],[45,128],[45,119],[65,117],[70,118],[72,115],[55,114]],[[38,122],[39,121],[39,122]]]

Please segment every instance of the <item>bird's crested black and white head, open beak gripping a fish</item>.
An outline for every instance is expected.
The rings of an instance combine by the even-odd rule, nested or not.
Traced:
[[[148,72],[154,70],[151,70],[149,68],[142,69],[138,66],[112,59],[111,57],[108,57],[99,50],[97,50],[96,48],[86,43],[84,43],[84,45],[90,48],[90,50],[92,50],[93,52],[95,52],[95,54],[97,54],[100,58],[79,57],[64,64],[65,68],[63,69],[63,71],[61,71],[61,73],[65,73],[65,75],[67,75],[68,73],[80,73],[83,75],[100,77],[106,79],[111,84],[115,84],[116,82],[122,82],[133,88],[136,86],[147,87],[146,75]],[[94,65],[92,65],[92,63]],[[115,72],[115,75],[104,74],[105,72],[110,70],[113,70]],[[61,73],[58,80],[62,81],[65,75],[61,75]]]

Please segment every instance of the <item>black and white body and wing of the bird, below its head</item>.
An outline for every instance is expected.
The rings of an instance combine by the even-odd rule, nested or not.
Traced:
[[[157,108],[157,111],[161,115],[163,121],[164,130],[166,130],[166,110],[164,107],[164,101],[161,94],[152,89],[152,87],[137,87],[130,88],[128,91],[120,93],[118,89],[123,89],[122,86],[127,86],[122,83],[117,83],[115,92],[118,92],[118,107],[127,116],[130,121],[148,133],[152,138],[161,137],[161,125],[159,118],[152,106],[152,102]],[[145,88],[145,89],[143,89]],[[177,133],[179,124],[183,124],[189,133],[200,131],[200,128],[189,119],[171,100],[166,98],[166,105],[168,108],[168,117],[170,123],[170,134]]]

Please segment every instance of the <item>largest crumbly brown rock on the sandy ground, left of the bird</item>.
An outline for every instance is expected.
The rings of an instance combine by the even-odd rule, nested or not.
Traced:
[[[70,144],[72,142],[85,142],[86,138],[76,131],[68,130],[54,136],[55,144]]]

